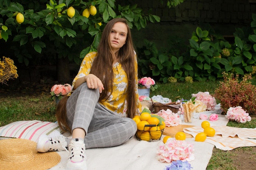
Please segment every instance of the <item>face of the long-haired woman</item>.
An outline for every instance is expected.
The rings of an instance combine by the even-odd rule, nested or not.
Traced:
[[[126,43],[127,26],[123,22],[117,22],[112,27],[109,39],[111,50],[116,53]]]

